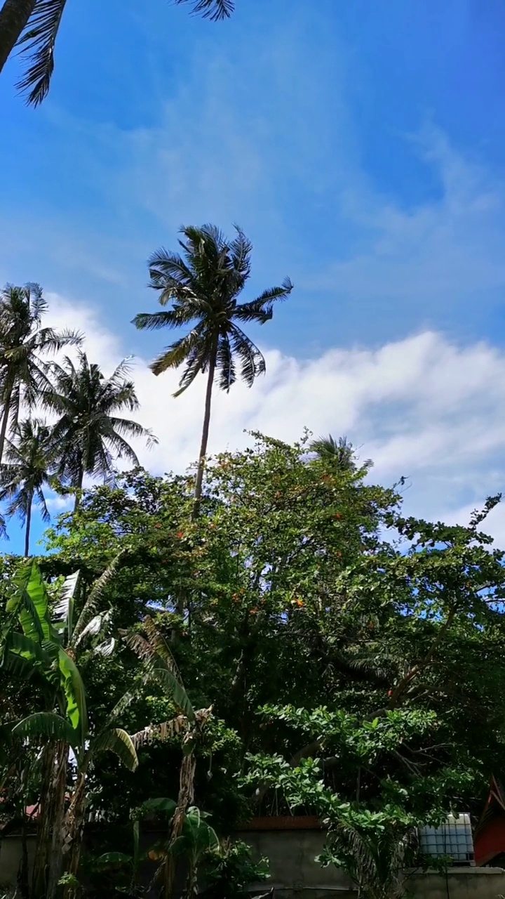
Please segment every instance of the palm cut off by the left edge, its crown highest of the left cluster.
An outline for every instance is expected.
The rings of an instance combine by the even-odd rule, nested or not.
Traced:
[[[22,405],[32,409],[49,387],[49,362],[43,357],[82,343],[75,331],[42,327],[47,309],[39,284],[7,284],[0,293],[0,462],[9,424],[16,432]]]

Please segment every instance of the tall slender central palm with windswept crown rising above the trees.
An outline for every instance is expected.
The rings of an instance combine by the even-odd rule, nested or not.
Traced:
[[[280,287],[264,290],[256,299],[237,302],[251,274],[253,245],[240,228],[235,230],[235,238],[228,241],[214,225],[184,227],[184,240],[179,241],[182,256],[163,247],[156,250],[148,261],[150,286],[159,291],[160,305],[172,303],[172,308],[140,313],[133,320],[140,329],[190,327],[151,365],[155,375],[184,366],[180,389],[174,396],[190,387],[200,372],[207,374],[196,503],[201,495],[215,375],[219,376],[219,387],[228,391],[236,380],[237,363],[248,387],[265,370],[261,351],[237,323],[268,322],[275,300],[285,299],[293,289],[287,278]]]

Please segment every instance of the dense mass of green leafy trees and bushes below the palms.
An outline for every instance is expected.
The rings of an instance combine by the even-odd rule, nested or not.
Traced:
[[[22,719],[43,708],[71,724],[64,685],[76,706],[79,692],[59,651],[73,659],[89,709],[77,762],[118,888],[131,885],[131,865],[118,867],[133,858],[125,808],[140,824],[156,811],[153,783],[178,795],[183,741],[185,770],[196,761],[188,804],[210,814],[191,812],[199,826],[190,833],[189,816],[173,842],[193,853],[188,890],[212,833],[290,811],[325,821],[321,862],[346,868],[363,899],[385,899],[417,859],[418,826],[480,811],[505,764],[504,556],[482,530],[496,498],[447,527],[403,518],[366,475],[315,458],[308,435],[295,446],[256,435],[208,463],[196,517],[191,476],[137,469],[84,492],[39,568],[3,560],[4,717],[18,720],[19,705]],[[40,705],[48,684],[61,709]],[[132,735],[135,772],[98,752],[119,733]],[[164,862],[173,801],[157,811]],[[212,865],[232,886],[216,889],[240,890],[251,859],[219,851]]]

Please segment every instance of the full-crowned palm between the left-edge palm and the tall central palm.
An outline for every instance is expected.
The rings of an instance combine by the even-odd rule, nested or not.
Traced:
[[[116,458],[138,465],[137,453],[126,438],[145,438],[148,445],[155,441],[142,425],[118,417],[121,410],[135,412],[139,405],[128,372],[128,360],[123,360],[110,378],[104,378],[84,352],[79,352],[77,365],[68,357],[63,365],[53,363],[54,383],[44,391],[41,402],[58,416],[51,432],[58,447],[57,475],[78,491],[84,475],[113,481]],[[78,502],[79,493],[75,507]]]

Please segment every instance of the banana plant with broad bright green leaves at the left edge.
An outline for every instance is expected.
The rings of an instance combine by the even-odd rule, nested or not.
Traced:
[[[63,583],[51,610],[47,584],[39,566],[31,562],[22,568],[7,602],[8,624],[0,646],[2,664],[14,675],[37,679],[45,706],[13,725],[15,737],[29,743],[39,741],[43,746],[40,826],[32,883],[34,899],[41,896],[52,899],[55,895],[65,856],[70,873],[76,872],[84,824],[86,778],[95,755],[110,750],[128,768],[137,767],[135,746],[113,716],[100,733],[90,732],[84,684],[75,663],[85,643],[100,637],[107,625],[109,612],[97,610],[104,587],[117,565],[118,559],[93,584],[76,619],[78,572]],[[93,646],[93,652],[100,654],[110,654],[112,649],[110,639]],[[76,773],[66,808],[70,751],[75,758]],[[72,886],[67,887],[68,896],[72,890]]]

